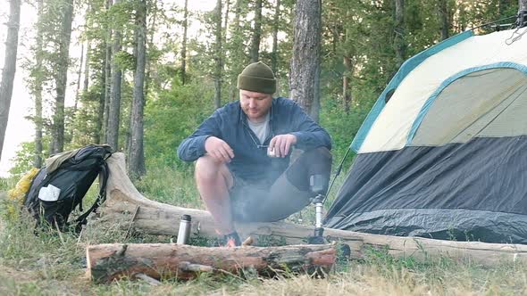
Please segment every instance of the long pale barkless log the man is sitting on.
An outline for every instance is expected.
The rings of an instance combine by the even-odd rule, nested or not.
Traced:
[[[205,210],[180,208],[151,201],[138,192],[126,174],[124,154],[114,153],[108,159],[108,198],[100,209],[100,223],[114,224],[122,221],[125,229],[132,226],[146,234],[176,235],[183,214],[192,216],[191,235],[217,237],[211,215]],[[252,236],[257,244],[261,240],[277,238],[280,243],[302,244],[314,234],[313,226],[285,222],[238,224],[243,237]],[[395,257],[412,256],[428,259],[445,256],[451,259],[473,260],[492,265],[501,261],[527,262],[527,245],[507,243],[452,242],[420,237],[400,237],[380,234],[363,234],[326,228],[329,241],[347,244],[352,259],[364,257],[364,251],[380,249]]]

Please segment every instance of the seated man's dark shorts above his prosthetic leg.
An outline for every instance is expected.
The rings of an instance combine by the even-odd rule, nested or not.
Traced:
[[[317,148],[301,154],[274,182],[248,182],[233,176],[230,202],[234,220],[273,222],[288,218],[314,198],[309,190],[309,176],[323,174],[329,182],[330,168],[329,150]]]

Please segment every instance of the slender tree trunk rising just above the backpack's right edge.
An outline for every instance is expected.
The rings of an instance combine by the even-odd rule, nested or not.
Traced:
[[[113,5],[113,0],[106,0],[105,8],[106,13],[109,13],[110,8]],[[110,22],[109,17],[106,17],[105,25],[107,28],[105,36],[105,106],[103,116],[103,142],[108,143],[108,121],[110,117],[110,100],[112,97],[112,28],[108,24]],[[115,147],[113,147],[115,148]]]

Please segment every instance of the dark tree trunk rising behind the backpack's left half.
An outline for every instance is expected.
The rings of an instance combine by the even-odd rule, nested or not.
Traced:
[[[54,106],[53,152],[64,150],[64,100],[68,86],[68,66],[70,64],[71,22],[73,21],[73,0],[63,3],[61,36],[59,37],[59,61],[56,76],[56,98]]]

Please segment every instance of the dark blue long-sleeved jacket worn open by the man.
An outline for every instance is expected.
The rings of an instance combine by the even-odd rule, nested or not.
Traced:
[[[331,149],[330,135],[292,100],[283,97],[272,100],[269,124],[271,135],[265,139],[265,147],[262,147],[248,126],[247,116],[239,102],[228,103],[214,111],[192,135],[181,142],[178,156],[180,160],[197,160],[205,154],[206,138],[216,136],[227,142],[234,151],[234,158],[228,167],[236,177],[248,181],[262,180],[264,177],[273,182],[289,166],[289,156],[267,156],[266,145],[273,136],[293,134],[297,136],[296,147],[301,150],[321,146]]]

